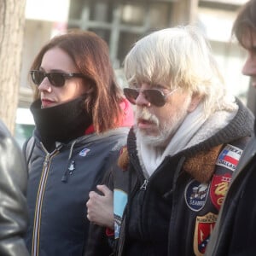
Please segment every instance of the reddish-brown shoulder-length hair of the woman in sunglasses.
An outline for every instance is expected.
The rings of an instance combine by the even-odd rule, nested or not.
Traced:
[[[94,32],[72,30],[52,38],[39,51],[31,69],[39,69],[46,51],[58,47],[64,50],[75,63],[79,73],[83,73],[86,83],[92,85],[92,92],[84,101],[84,108],[92,114],[96,132],[104,132],[119,125],[122,110],[121,90],[116,83],[113,67],[108,55],[108,45]],[[34,98],[39,91],[35,88]]]

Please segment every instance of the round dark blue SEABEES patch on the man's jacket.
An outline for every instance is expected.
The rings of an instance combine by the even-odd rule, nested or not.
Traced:
[[[200,183],[193,179],[185,189],[185,201],[192,211],[200,211],[206,204],[209,191],[208,183]]]

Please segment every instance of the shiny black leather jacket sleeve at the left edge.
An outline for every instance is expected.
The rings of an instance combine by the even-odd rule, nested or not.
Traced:
[[[0,255],[28,256],[26,165],[20,148],[0,121]]]

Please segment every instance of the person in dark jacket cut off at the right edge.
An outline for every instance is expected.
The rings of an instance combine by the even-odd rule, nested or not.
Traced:
[[[256,1],[244,4],[236,17],[233,32],[247,50],[242,73],[251,77],[256,87]],[[256,126],[254,124],[254,135]],[[256,255],[256,139],[248,143],[230,189],[225,197],[218,222],[207,247],[207,256]]]

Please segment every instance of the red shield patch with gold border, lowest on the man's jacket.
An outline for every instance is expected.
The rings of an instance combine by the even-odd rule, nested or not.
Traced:
[[[217,214],[208,212],[204,216],[196,216],[194,234],[194,253],[196,256],[204,255],[210,235],[217,221]]]

